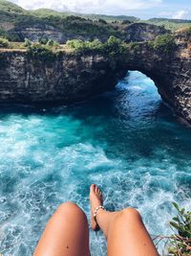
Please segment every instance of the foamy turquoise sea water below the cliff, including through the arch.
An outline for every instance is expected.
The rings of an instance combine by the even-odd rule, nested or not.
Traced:
[[[89,216],[91,183],[108,209],[137,207],[153,235],[168,234],[171,201],[191,207],[191,130],[141,73],[78,105],[1,106],[0,252],[32,255],[63,201]],[[91,232],[91,247],[106,255],[100,232]]]

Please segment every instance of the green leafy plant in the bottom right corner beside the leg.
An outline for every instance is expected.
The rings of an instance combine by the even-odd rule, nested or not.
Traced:
[[[173,235],[159,236],[156,239],[167,244],[169,256],[190,256],[191,255],[191,212],[173,202],[178,214],[169,222]]]

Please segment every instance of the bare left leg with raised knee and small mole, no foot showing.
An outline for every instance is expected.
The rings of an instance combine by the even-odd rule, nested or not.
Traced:
[[[33,256],[90,256],[89,228],[74,203],[61,204],[48,222]]]

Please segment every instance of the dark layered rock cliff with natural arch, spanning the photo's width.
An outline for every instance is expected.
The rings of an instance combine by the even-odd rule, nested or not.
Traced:
[[[177,35],[168,53],[138,43],[117,56],[67,54],[43,61],[26,52],[0,55],[1,103],[74,103],[116,86],[127,70],[138,70],[155,81],[162,99],[191,125],[191,47]]]

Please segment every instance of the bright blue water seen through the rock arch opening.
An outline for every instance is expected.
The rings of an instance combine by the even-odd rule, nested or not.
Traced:
[[[162,104],[155,82],[138,70],[128,71],[126,76],[117,82],[115,101],[118,115],[133,119],[145,119],[155,115]]]

